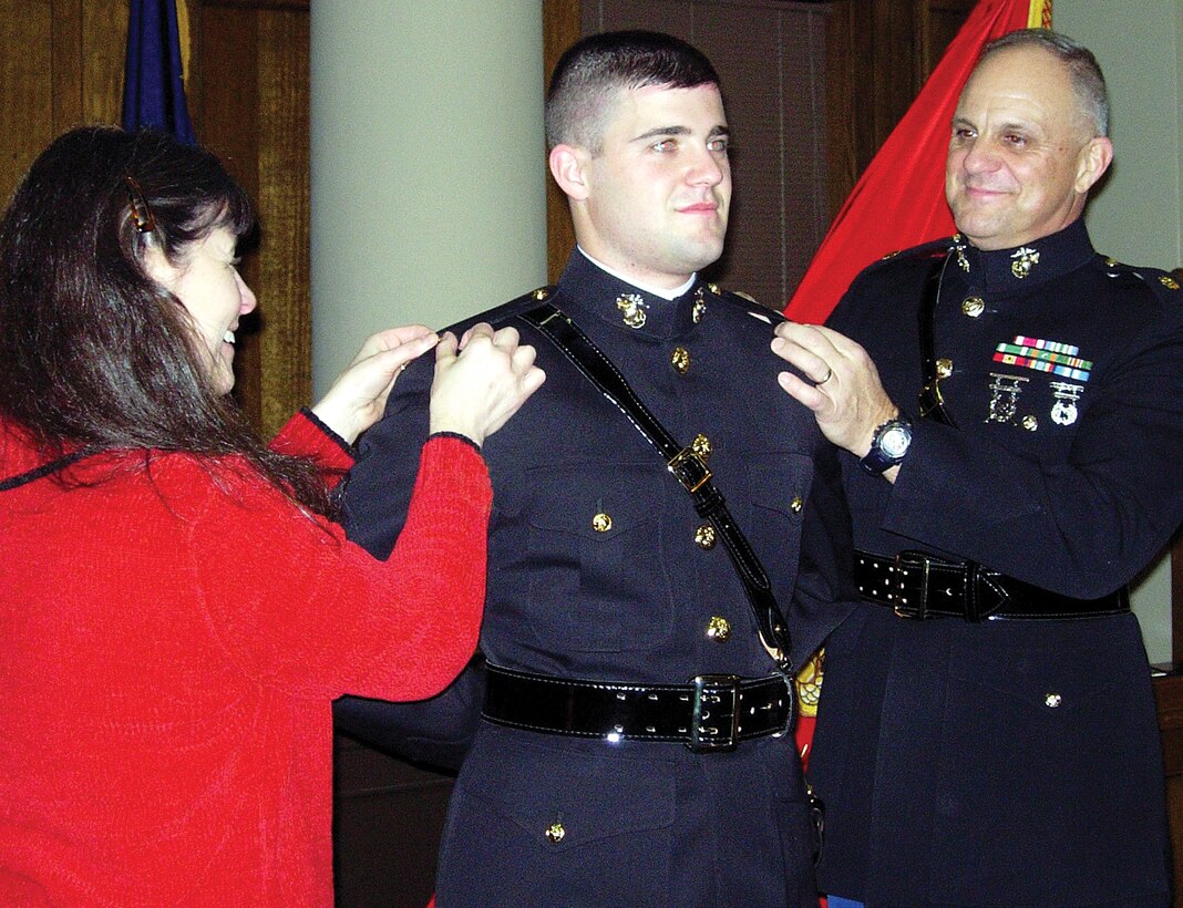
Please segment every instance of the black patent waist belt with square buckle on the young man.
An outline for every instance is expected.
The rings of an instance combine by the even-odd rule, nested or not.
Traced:
[[[626,685],[491,664],[481,715],[547,734],[681,741],[697,752],[730,751],[738,741],[788,731],[788,683],[783,675],[698,675],[685,685]]]

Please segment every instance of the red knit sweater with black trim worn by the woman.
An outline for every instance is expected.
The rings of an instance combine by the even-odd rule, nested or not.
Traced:
[[[277,443],[349,465],[303,416]],[[380,563],[241,462],[129,456],[0,492],[0,904],[331,904],[330,701],[472,654],[484,462],[429,441]],[[0,426],[0,479],[39,463]]]

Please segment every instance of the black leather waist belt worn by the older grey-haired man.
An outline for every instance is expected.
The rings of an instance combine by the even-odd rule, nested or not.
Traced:
[[[946,562],[923,552],[892,557],[856,551],[854,581],[864,599],[904,618],[1092,618],[1130,610],[1124,586],[1099,599],[1074,599],[974,562]]]

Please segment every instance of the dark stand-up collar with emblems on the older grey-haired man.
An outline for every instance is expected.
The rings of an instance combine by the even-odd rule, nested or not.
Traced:
[[[1085,221],[1078,218],[1058,233],[1009,249],[984,252],[955,234],[949,271],[961,271],[983,293],[1009,293],[1055,280],[1095,254]]]

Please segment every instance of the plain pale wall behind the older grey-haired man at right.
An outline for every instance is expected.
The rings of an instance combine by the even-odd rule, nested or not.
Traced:
[[[1094,245],[1120,261],[1183,265],[1183,0],[1055,0],[1052,19],[1097,54],[1110,86],[1116,155],[1086,215]],[[1150,660],[1168,661],[1169,559],[1136,589],[1134,611]]]

